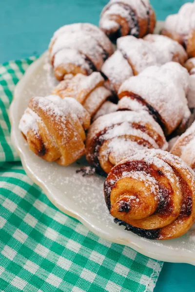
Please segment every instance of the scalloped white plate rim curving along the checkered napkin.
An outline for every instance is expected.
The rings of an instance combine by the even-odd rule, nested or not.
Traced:
[[[118,243],[121,245],[129,246],[130,248],[134,249],[135,251],[139,252],[140,254],[144,256],[151,257],[156,260],[160,261],[167,261],[167,262],[176,262],[176,263],[188,263],[195,265],[195,253],[192,255],[179,255],[179,250],[178,250],[178,255],[165,255],[165,254],[157,254],[153,253],[150,250],[144,249],[142,246],[139,244],[130,241],[125,241],[125,239],[120,239],[116,238],[115,236],[111,236],[110,234],[106,234],[105,231],[102,231],[100,228],[97,226],[94,226],[92,222],[88,218],[85,218],[84,214],[79,214],[77,210],[73,210],[72,207],[68,207],[68,205],[61,205],[58,203],[58,201],[55,201],[52,197],[52,192],[47,188],[44,182],[42,182],[37,175],[34,174],[33,170],[29,167],[28,163],[25,160],[25,157],[22,153],[22,150],[20,148],[19,142],[17,140],[17,135],[15,132],[15,128],[17,125],[16,119],[16,114],[15,114],[15,103],[17,98],[20,98],[19,92],[21,92],[22,88],[24,87],[27,79],[30,77],[31,73],[36,70],[36,68],[39,67],[39,64],[43,59],[46,57],[47,51],[43,53],[36,61],[34,61],[26,70],[18,84],[16,85],[15,91],[14,91],[14,96],[12,103],[10,105],[9,109],[9,119],[11,123],[11,142],[16,151],[18,152],[22,166],[26,172],[26,174],[30,177],[30,179],[36,183],[44,192],[44,194],[47,196],[47,198],[62,212],[67,214],[68,216],[71,216],[75,219],[78,219],[79,222],[81,222],[84,226],[87,227],[92,233],[96,234],[98,237],[104,238],[110,242]],[[194,255],[194,257],[193,257]]]

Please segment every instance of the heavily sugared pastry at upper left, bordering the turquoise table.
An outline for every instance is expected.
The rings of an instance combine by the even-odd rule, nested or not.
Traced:
[[[95,25],[74,23],[54,33],[49,45],[49,58],[54,74],[60,81],[65,74],[91,74],[99,71],[113,54],[109,38]]]

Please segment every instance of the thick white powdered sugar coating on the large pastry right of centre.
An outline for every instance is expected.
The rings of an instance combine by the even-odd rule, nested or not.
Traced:
[[[171,133],[185,115],[187,99],[184,89],[178,87],[174,80],[170,82],[173,73],[164,70],[166,66],[167,64],[162,67],[153,66],[138,76],[127,79],[121,85],[118,94],[129,91],[141,96],[147,104],[157,110],[166,123],[168,132]],[[176,69],[175,74],[178,74]]]

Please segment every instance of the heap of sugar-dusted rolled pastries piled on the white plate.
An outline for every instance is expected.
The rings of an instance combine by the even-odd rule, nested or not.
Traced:
[[[169,16],[161,35],[155,24],[149,0],[110,0],[99,28],[59,28],[48,53],[59,84],[31,98],[19,128],[48,162],[85,155],[106,177],[116,223],[172,239],[195,222],[195,3]]]

